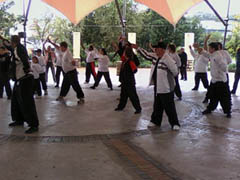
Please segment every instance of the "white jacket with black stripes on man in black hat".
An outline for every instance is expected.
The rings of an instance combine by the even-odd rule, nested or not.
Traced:
[[[153,74],[156,67],[158,57],[155,53],[147,52],[142,48],[138,48],[138,52],[146,59],[152,61],[152,69],[150,74],[150,85],[153,85]],[[175,80],[174,77],[178,75],[178,67],[176,62],[165,53],[159,60],[156,69],[156,86],[158,94],[170,93],[174,90]]]

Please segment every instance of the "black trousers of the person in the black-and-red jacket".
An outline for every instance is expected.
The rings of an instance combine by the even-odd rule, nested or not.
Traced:
[[[128,98],[130,99],[130,101],[136,111],[142,110],[140,101],[139,101],[139,98],[137,95],[137,90],[136,90],[135,84],[122,83],[121,93],[120,93],[120,101],[118,104],[119,109],[125,108]]]

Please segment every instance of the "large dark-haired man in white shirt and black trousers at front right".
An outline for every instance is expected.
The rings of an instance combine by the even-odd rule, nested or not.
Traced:
[[[198,48],[200,54],[210,59],[211,84],[210,84],[210,103],[203,114],[210,114],[220,102],[223,112],[227,118],[231,118],[231,95],[227,80],[227,62],[218,51],[218,43],[209,44],[209,53]]]

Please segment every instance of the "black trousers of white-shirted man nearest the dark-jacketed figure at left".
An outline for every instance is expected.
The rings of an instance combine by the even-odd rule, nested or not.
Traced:
[[[76,69],[64,74],[60,96],[65,97],[71,86],[73,87],[73,90],[77,93],[78,99],[84,98],[84,93],[78,82],[78,73]]]

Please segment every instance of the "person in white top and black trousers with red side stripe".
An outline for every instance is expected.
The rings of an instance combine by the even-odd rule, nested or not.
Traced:
[[[96,58],[96,52],[93,47],[93,45],[90,45],[88,49],[85,49],[83,43],[81,42],[81,46],[84,49],[87,58],[86,58],[86,80],[85,84],[88,84],[90,81],[91,75],[94,78],[94,81],[96,81],[97,73],[95,71],[95,58]]]

